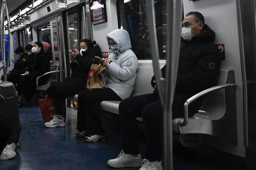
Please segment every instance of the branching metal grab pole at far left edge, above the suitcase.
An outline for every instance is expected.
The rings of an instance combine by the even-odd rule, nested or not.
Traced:
[[[4,12],[6,14],[7,18],[7,28],[8,28],[8,36],[9,36],[9,43],[8,43],[8,49],[10,50],[10,38],[11,38],[11,28],[10,28],[10,21],[9,21],[9,12],[7,9],[7,4],[6,1],[3,0],[2,3],[2,9],[1,9],[1,22],[0,22],[0,34],[1,34],[1,41],[2,41],[2,59],[4,61],[4,81],[7,81],[7,70],[10,62],[10,52],[8,52],[8,57],[7,57],[7,66],[6,66],[6,61],[5,61],[5,43],[4,43],[4,33],[5,33],[5,26],[4,26]]]

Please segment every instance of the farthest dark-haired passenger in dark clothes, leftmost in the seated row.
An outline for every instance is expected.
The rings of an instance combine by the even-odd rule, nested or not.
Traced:
[[[21,77],[23,69],[25,68],[25,62],[28,61],[29,56],[27,53],[25,53],[23,47],[18,47],[14,52],[18,56],[18,59],[16,61],[13,61],[14,68],[12,69],[7,81],[12,82],[14,84],[14,87],[16,87],[16,84],[19,82],[19,78]]]

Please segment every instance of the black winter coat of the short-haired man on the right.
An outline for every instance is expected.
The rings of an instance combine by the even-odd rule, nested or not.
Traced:
[[[184,104],[189,97],[216,85],[221,66],[221,53],[212,43],[215,33],[205,25],[202,36],[194,36],[191,42],[181,40],[179,67],[174,100]],[[166,66],[162,69],[165,76]],[[153,83],[154,76],[151,80]],[[154,91],[157,94],[157,90]],[[190,107],[193,112],[200,109],[202,99],[196,100]],[[193,115],[192,113],[190,116]]]

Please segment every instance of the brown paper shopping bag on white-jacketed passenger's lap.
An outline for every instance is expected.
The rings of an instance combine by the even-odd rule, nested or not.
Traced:
[[[102,83],[99,74],[105,71],[105,68],[97,64],[91,64],[91,69],[88,73],[86,88],[102,88]]]

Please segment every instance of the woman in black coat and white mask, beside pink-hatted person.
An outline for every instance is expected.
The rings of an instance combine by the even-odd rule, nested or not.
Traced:
[[[19,105],[24,104],[24,99],[30,101],[32,95],[36,92],[37,77],[49,71],[47,70],[49,63],[44,56],[43,44],[41,42],[35,42],[31,51],[35,54],[35,57],[31,59],[33,65],[23,71],[24,75],[21,76],[17,85],[17,91],[21,95],[18,99]],[[39,79],[38,84],[44,85],[46,82],[47,78],[42,77]]]

